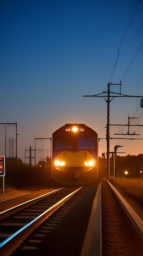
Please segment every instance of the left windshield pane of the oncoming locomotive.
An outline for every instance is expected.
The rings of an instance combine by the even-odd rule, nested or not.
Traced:
[[[59,148],[59,149],[61,149],[61,148],[72,148],[72,138],[62,137],[62,136],[56,137],[55,147]]]

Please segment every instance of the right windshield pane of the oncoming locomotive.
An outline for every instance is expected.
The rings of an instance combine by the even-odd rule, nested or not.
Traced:
[[[94,149],[95,138],[94,137],[79,137],[78,138],[78,149]]]

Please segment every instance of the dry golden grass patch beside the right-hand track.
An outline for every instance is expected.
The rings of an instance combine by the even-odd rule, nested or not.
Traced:
[[[143,180],[141,178],[115,179],[115,185],[124,189],[128,195],[138,198],[143,202]]]

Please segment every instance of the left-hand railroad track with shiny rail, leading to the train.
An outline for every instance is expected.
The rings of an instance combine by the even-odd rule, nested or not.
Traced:
[[[52,195],[44,196],[44,198],[38,202],[34,201],[33,204],[30,202],[30,205],[22,210],[18,211],[15,207],[15,213],[0,220],[0,255],[9,256],[17,247],[17,250],[13,252],[12,255],[22,255],[23,251],[28,251],[30,255],[32,255],[31,252],[39,248],[39,243],[45,238],[45,234],[50,233],[54,229],[66,213],[70,211],[75,202],[79,200],[88,189],[89,187],[85,189],[82,189],[82,187],[58,189],[54,193],[52,192]],[[82,190],[82,192],[78,193],[80,190]],[[73,196],[74,200],[71,199]],[[69,199],[69,205],[65,207],[64,204]],[[61,205],[63,205],[63,207],[60,212],[59,207]],[[48,218],[53,213],[54,216]],[[48,223],[45,223],[47,219]],[[40,229],[38,234],[37,227]],[[27,242],[25,239],[35,229],[36,233],[32,234],[32,239],[30,239],[29,242],[28,238]],[[25,242],[23,242],[24,240]],[[20,246],[21,243],[23,243],[22,246]]]

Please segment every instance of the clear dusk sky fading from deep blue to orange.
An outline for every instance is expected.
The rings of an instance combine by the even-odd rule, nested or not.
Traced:
[[[99,138],[106,138],[105,99],[83,95],[102,93],[109,81],[122,81],[122,94],[143,96],[143,0],[136,10],[138,3],[0,0],[1,155],[5,155],[2,123],[17,122],[17,157],[24,162],[25,149],[35,148],[35,138],[52,137],[68,123],[86,124],[98,132]],[[111,85],[111,91],[118,93],[119,85]],[[135,117],[130,119],[131,124],[143,125],[142,113],[140,98],[115,98],[110,104],[110,123],[128,124],[128,117]],[[114,135],[127,132],[126,127],[110,127],[111,137],[130,138]],[[111,139],[110,151],[120,145],[123,147],[118,152],[125,152],[121,156],[143,153],[143,140],[139,139],[143,139],[143,127],[132,126],[132,132],[140,134],[132,136],[137,140]],[[7,157],[12,150],[9,138],[14,141],[15,156],[15,128],[6,127]],[[36,148],[38,162],[46,157],[50,140],[36,141]],[[103,152],[106,140],[100,139],[99,156]]]

